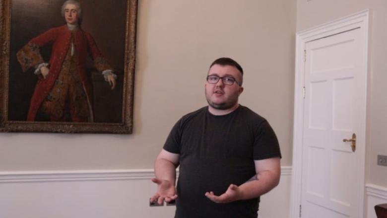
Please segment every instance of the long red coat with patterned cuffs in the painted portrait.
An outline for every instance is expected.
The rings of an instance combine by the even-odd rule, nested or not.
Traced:
[[[83,83],[84,91],[91,104],[91,86],[86,76],[86,57],[89,53],[94,61],[95,68],[102,72],[105,70],[111,70],[112,68],[103,58],[99,51],[95,40],[90,33],[78,29],[74,33],[74,47],[77,53],[77,73],[79,73],[80,79]],[[54,83],[61,71],[65,56],[71,46],[71,32],[66,25],[52,28],[47,32],[33,38],[28,42],[17,54],[17,60],[19,61],[23,72],[27,71],[31,67],[35,67],[38,64],[44,63],[42,56],[40,55],[40,47],[52,44],[51,58],[49,61],[49,74],[46,79],[39,75],[39,80],[35,86],[35,91],[31,98],[30,108],[28,110],[27,121],[34,121],[35,116],[41,106],[43,100],[54,86]]]

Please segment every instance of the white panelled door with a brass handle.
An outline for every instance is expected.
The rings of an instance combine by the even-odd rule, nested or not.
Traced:
[[[357,28],[305,44],[302,218],[362,217],[365,107],[361,104],[366,94],[362,37]],[[354,151],[351,142],[343,142],[352,134],[358,137]]]

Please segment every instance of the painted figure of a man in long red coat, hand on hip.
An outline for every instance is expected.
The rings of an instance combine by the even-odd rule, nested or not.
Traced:
[[[86,76],[89,54],[95,68],[102,72],[111,88],[116,74],[103,58],[90,35],[80,28],[81,7],[76,0],[66,0],[62,6],[66,25],[52,28],[33,38],[18,53],[23,72],[34,67],[39,80],[31,98],[27,121],[93,122],[91,86]],[[40,48],[52,45],[51,58],[44,62]]]

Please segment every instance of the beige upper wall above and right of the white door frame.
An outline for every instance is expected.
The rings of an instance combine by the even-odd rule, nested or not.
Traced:
[[[387,1],[297,0],[297,31],[370,9],[369,81],[367,104],[367,182],[387,186],[387,167],[377,155],[387,155]]]

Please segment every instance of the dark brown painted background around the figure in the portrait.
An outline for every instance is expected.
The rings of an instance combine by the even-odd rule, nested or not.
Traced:
[[[25,121],[37,76],[30,69],[23,73],[16,53],[32,38],[50,28],[65,24],[61,7],[65,0],[11,0],[9,52],[8,120]],[[93,69],[89,58],[87,68],[93,85],[95,122],[122,122],[123,73],[127,0],[80,0],[81,28],[90,32],[98,48],[118,74],[117,86],[111,90],[103,76]],[[49,61],[51,47],[41,50]]]

